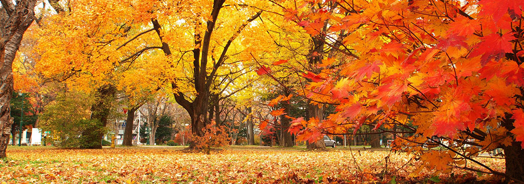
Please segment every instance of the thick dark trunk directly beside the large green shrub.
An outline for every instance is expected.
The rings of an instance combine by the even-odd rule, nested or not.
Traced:
[[[96,91],[96,101],[91,106],[91,119],[97,120],[94,126],[85,129],[80,136],[83,143],[81,148],[101,149],[102,136],[104,135],[104,127],[107,124],[107,117],[110,114],[112,105],[116,94],[116,88],[113,85],[101,86]]]

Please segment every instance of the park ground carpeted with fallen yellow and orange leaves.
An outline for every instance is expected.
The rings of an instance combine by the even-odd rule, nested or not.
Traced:
[[[1,183],[405,183],[481,180],[462,170],[434,175],[389,151],[304,152],[225,150],[186,153],[172,148],[8,148]],[[504,160],[486,162],[503,171]],[[432,175],[433,174],[433,175]],[[494,177],[489,177],[493,179]]]

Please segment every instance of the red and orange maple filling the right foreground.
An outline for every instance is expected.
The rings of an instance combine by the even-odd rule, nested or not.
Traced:
[[[328,3],[339,8],[299,13]],[[286,17],[311,35],[348,34],[340,45],[328,42],[345,57],[325,62],[329,67],[314,72],[319,80],[309,84],[319,91],[311,98],[336,111],[320,123],[294,122],[293,132],[305,127],[297,137],[316,140],[319,133],[355,134],[369,126],[400,135],[395,150],[414,153],[424,167],[524,181],[521,1],[305,1],[297,7]],[[316,24],[323,20],[331,29]],[[505,173],[476,159],[495,148],[505,151]]]

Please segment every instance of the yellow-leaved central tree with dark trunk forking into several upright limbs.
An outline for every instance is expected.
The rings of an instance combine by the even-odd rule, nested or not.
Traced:
[[[221,66],[227,63],[228,50],[234,45],[236,38],[241,36],[243,30],[261,14],[260,10],[249,5],[236,5],[236,2],[224,4],[224,0],[216,0],[200,3],[202,4],[180,3],[181,9],[189,11],[184,13],[190,15],[184,17],[184,26],[191,27],[193,30],[191,39],[194,42],[189,47],[192,48],[189,50],[192,57],[188,62],[188,69],[192,73],[188,75],[188,80],[175,78],[171,82],[174,99],[188,111],[191,117],[191,129],[196,136],[202,136],[202,129],[210,122],[208,112],[211,86],[214,84]],[[226,11],[226,13],[221,13],[223,11]],[[179,13],[179,15],[185,15],[184,13]],[[231,22],[228,20],[232,18],[231,15],[242,16],[235,17],[235,19],[240,20],[230,25]],[[208,18],[202,22],[201,16]],[[151,21],[158,38],[162,42],[161,49],[167,56],[172,55],[170,47],[173,47],[172,43],[165,40],[165,35],[169,35],[170,32],[167,21],[173,18],[181,19],[179,16],[168,15],[167,17],[159,16]],[[221,25],[230,25],[233,29],[220,29]],[[214,40],[215,35],[218,34],[220,34],[219,40]],[[215,45],[215,43],[218,44]],[[181,90],[181,87],[184,87],[181,86],[184,85],[183,83],[189,84],[188,87],[192,88],[191,95],[183,93],[183,90]]]

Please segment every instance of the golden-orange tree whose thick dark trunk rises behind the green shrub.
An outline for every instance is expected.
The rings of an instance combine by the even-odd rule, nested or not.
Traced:
[[[38,38],[34,52],[40,56],[36,72],[46,80],[94,94],[91,118],[100,122],[100,130],[107,124],[117,94],[125,93],[124,96],[132,99],[130,106],[137,108],[143,103],[141,99],[149,98],[161,88],[157,84],[163,83],[163,78],[158,75],[165,73],[160,70],[146,72],[144,66],[149,68],[150,65],[144,63],[161,66],[158,63],[163,60],[146,61],[139,56],[147,55],[152,59],[155,53],[124,47],[137,46],[127,41],[144,28],[141,24],[146,20],[136,19],[140,11],[119,1],[71,1],[67,4],[51,1],[51,6],[56,13],[42,19],[39,29],[34,31]],[[114,9],[106,11],[108,6]],[[102,135],[99,132],[91,140],[100,143]],[[101,145],[90,148],[101,148]]]

